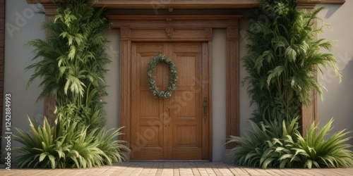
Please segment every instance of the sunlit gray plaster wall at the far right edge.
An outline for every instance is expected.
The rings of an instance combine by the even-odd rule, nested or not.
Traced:
[[[323,5],[320,5],[323,6]],[[323,101],[318,100],[318,119],[321,127],[334,118],[333,132],[343,129],[353,131],[353,1],[345,4],[325,4],[326,9],[318,15],[333,31],[325,29],[320,38],[338,40],[332,53],[337,58],[337,65],[342,73],[339,84],[333,70],[324,70],[319,82],[327,89],[323,92]],[[353,134],[350,134],[352,137]],[[350,139],[349,144],[353,144]]]

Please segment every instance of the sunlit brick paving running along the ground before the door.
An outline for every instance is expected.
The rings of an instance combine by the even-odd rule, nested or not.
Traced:
[[[258,169],[239,168],[225,163],[126,162],[86,169],[12,169],[0,175],[353,175],[353,168],[337,169]]]

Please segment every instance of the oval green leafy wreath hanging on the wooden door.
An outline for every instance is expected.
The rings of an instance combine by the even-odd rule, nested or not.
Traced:
[[[167,63],[171,73],[169,87],[167,91],[161,91],[160,89],[158,89],[155,83],[155,80],[153,80],[153,74],[152,74],[153,70],[155,70],[155,66],[160,62]],[[177,87],[178,74],[177,74],[177,67],[174,65],[174,63],[170,58],[167,58],[167,56],[161,55],[161,54],[153,58],[152,61],[150,61],[147,75],[148,75],[148,84],[150,84],[150,90],[152,91],[152,94],[154,96],[158,96],[161,99],[166,99],[169,96],[172,96],[175,90],[175,87]]]

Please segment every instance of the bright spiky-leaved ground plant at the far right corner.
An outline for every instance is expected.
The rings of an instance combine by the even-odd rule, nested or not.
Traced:
[[[350,132],[341,130],[328,139],[325,137],[333,128],[333,119],[328,122],[322,130],[311,124],[306,132],[305,138],[297,132],[297,143],[292,160],[298,161],[299,167],[303,168],[349,168],[353,167],[353,152],[349,150],[352,145],[343,144],[351,137],[345,137]]]

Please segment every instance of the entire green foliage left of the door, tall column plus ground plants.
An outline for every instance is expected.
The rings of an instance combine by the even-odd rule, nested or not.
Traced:
[[[107,18],[86,0],[54,1],[58,15],[44,23],[46,40],[34,39],[35,57],[29,65],[35,70],[28,86],[41,78],[42,94],[54,96],[56,119],[51,127],[30,120],[30,132],[18,129],[14,139],[23,147],[16,149],[18,167],[85,168],[121,162],[121,151],[128,148],[116,140],[121,129],[104,128],[102,97],[105,92],[104,65],[111,60],[106,53]]]

